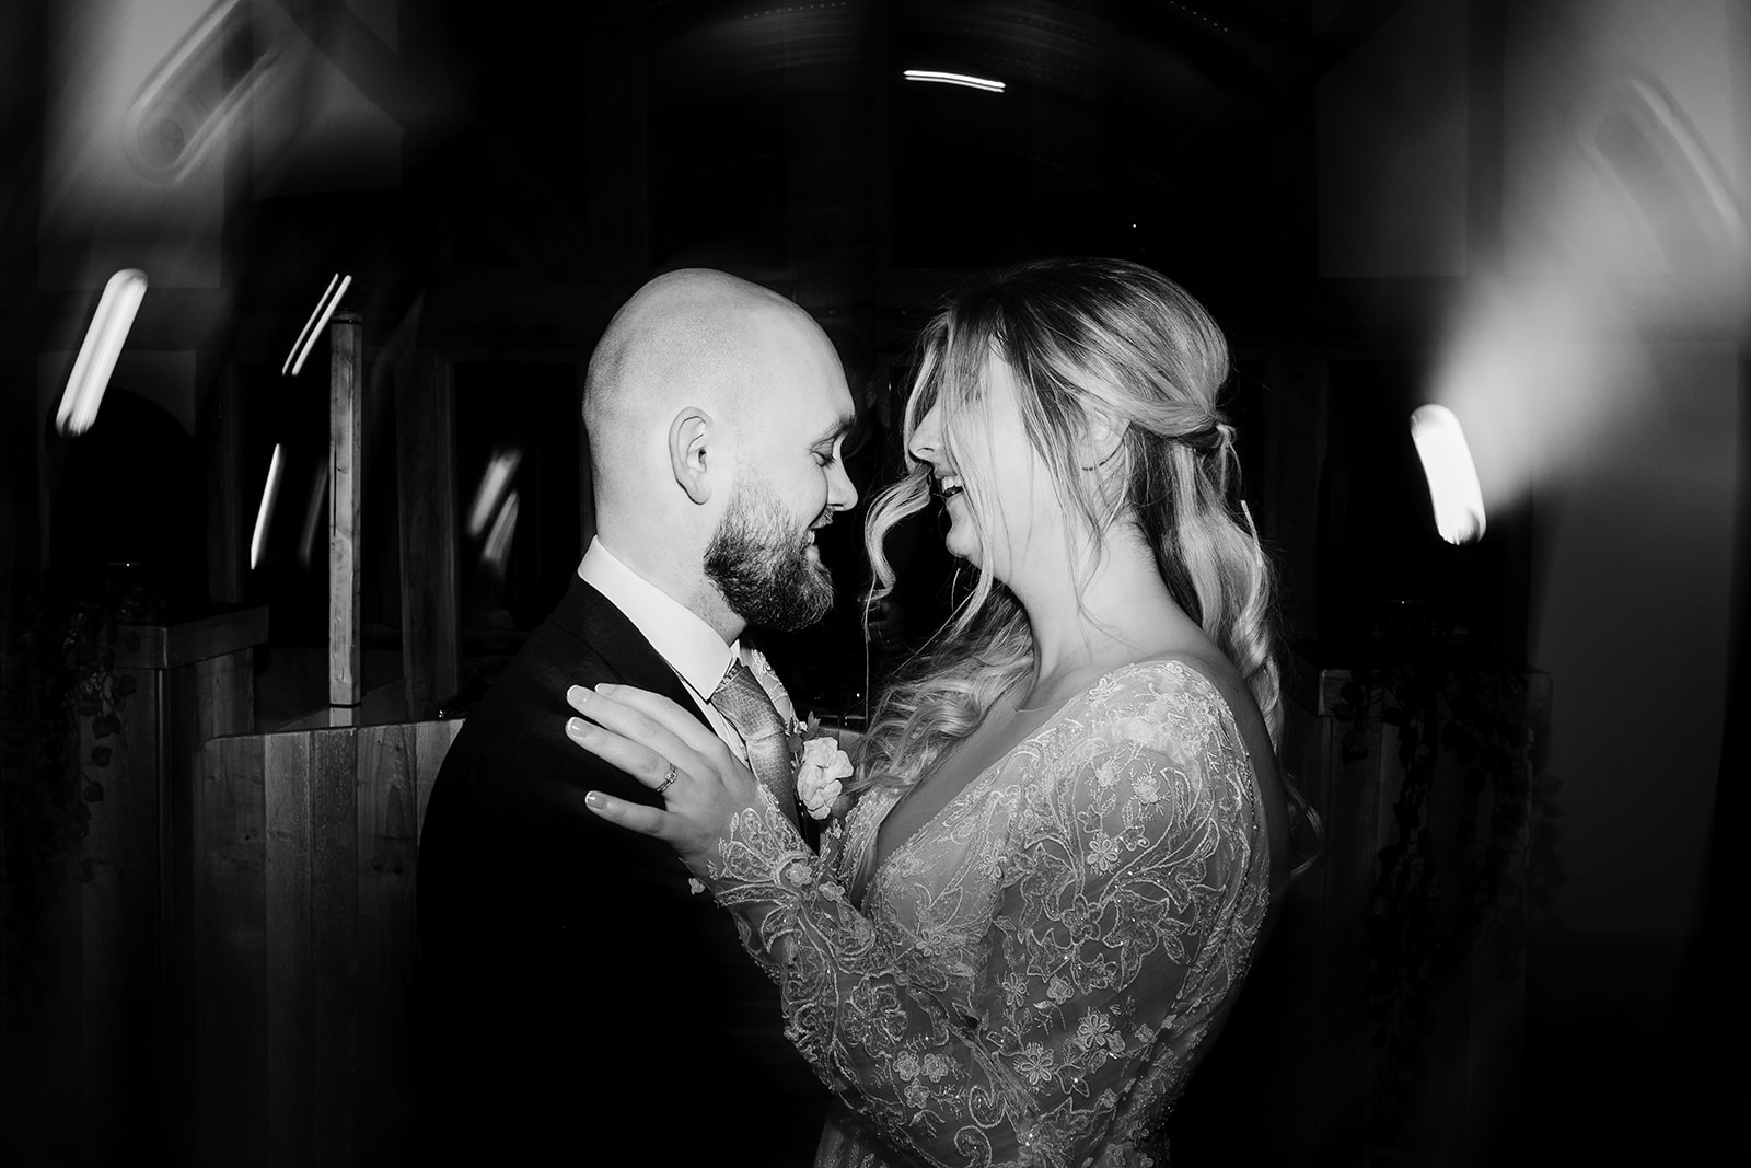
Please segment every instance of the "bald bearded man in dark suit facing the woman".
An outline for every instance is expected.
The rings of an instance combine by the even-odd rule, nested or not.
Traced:
[[[583,417],[597,538],[420,830],[422,1133],[461,1163],[807,1164],[826,1093],[776,988],[665,844],[585,809],[660,800],[566,739],[566,690],[655,690],[746,758],[709,695],[739,657],[790,713],[742,634],[832,606],[814,532],[856,503],[851,394],[805,312],[690,270],[615,313]]]

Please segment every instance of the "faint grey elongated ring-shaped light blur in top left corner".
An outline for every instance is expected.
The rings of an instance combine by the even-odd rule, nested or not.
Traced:
[[[182,182],[240,123],[282,46],[249,18],[249,5],[219,0],[140,86],[128,107],[123,149],[142,177]]]

